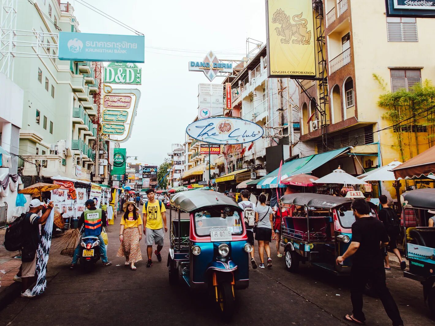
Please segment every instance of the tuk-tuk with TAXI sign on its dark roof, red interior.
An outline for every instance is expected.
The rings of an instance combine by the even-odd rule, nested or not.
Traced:
[[[281,223],[285,266],[296,272],[299,262],[309,262],[336,275],[350,273],[351,258],[340,265],[335,259],[348,249],[352,239],[352,224],[355,216],[350,198],[294,193],[282,196],[279,206],[293,211],[283,217]],[[376,207],[369,203],[371,214],[376,216]]]

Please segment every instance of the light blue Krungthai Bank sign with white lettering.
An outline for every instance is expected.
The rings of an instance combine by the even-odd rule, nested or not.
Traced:
[[[59,59],[143,63],[145,37],[60,32]]]

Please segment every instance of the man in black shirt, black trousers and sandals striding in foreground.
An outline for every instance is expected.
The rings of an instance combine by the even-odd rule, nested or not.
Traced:
[[[353,256],[351,268],[351,301],[353,314],[345,315],[345,320],[356,324],[364,324],[362,312],[362,294],[370,279],[373,288],[378,291],[385,312],[393,322],[393,326],[403,325],[399,309],[385,284],[383,249],[388,245],[388,234],[384,224],[370,216],[370,207],[362,198],[352,202],[351,209],[356,221],[352,224],[352,242],[343,256],[337,257],[336,263],[342,263]]]

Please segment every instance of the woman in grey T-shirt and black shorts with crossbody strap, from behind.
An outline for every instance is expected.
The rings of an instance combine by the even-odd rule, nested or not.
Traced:
[[[264,251],[268,255],[268,268],[272,267],[271,248],[269,243],[272,237],[275,236],[273,230],[273,211],[271,206],[266,205],[266,196],[260,195],[258,197],[260,205],[255,208],[255,222],[257,222],[257,231],[255,233],[255,240],[258,241],[258,255],[260,256],[260,265],[258,267],[264,268]]]

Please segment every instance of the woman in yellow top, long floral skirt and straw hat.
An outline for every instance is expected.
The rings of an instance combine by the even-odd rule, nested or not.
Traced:
[[[124,216],[121,218],[119,231],[119,246],[117,256],[125,257],[125,266],[130,264],[131,270],[136,270],[134,263],[142,260],[141,244],[143,222],[136,204],[132,201],[124,203]]]

